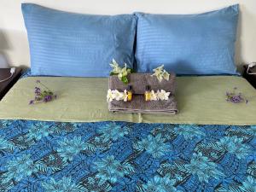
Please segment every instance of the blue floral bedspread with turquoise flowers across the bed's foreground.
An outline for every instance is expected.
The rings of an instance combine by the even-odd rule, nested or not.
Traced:
[[[256,126],[0,120],[0,191],[256,191]]]

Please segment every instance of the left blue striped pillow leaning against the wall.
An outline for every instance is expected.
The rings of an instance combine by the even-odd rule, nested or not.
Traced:
[[[133,68],[135,15],[81,15],[22,3],[32,75],[107,77],[115,59]]]

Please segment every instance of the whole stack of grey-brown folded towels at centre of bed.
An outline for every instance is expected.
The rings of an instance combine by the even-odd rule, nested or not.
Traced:
[[[132,86],[132,101],[116,101],[108,103],[108,109],[111,112],[123,113],[161,113],[176,114],[177,102],[174,98],[175,94],[175,74],[170,73],[169,80],[163,79],[161,82],[150,73],[131,73],[128,75],[129,85]],[[146,86],[150,86],[150,90],[166,90],[171,92],[169,99],[165,101],[149,101],[144,99]],[[110,76],[108,79],[108,89],[124,91],[128,90],[128,84],[121,82],[117,75]]]

